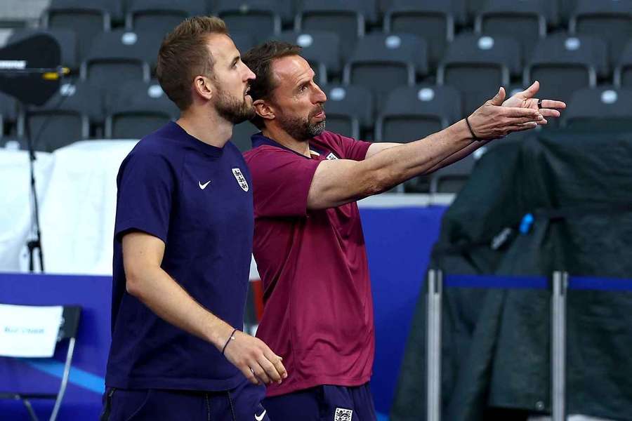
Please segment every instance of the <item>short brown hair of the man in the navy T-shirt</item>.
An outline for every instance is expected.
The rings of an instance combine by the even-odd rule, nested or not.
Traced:
[[[224,21],[215,16],[194,16],[180,22],[162,41],[156,75],[164,93],[181,110],[193,102],[193,78],[198,74],[211,77],[213,55],[206,40],[212,34],[228,35]]]

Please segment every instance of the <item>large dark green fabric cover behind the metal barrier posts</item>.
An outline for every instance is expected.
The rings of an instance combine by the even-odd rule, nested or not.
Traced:
[[[447,210],[431,267],[447,274],[632,275],[632,133],[544,131],[496,141]],[[517,228],[534,214],[527,234]],[[497,250],[489,244],[513,233]],[[426,414],[423,294],[391,420]],[[444,420],[489,420],[492,408],[549,412],[550,293],[446,288],[442,312]],[[568,413],[632,420],[632,293],[570,290]],[[521,410],[518,412],[518,410]]]

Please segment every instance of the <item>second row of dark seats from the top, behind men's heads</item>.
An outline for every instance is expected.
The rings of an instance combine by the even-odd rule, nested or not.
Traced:
[[[18,41],[30,34],[15,34]],[[55,32],[61,39],[61,30]],[[65,33],[70,35],[70,33]],[[570,100],[574,91],[598,83],[632,86],[632,40],[614,65],[607,60],[605,44],[592,36],[554,34],[541,39],[532,58],[523,65],[516,41],[506,37],[461,34],[447,47],[436,72],[430,72],[428,48],[411,34],[368,34],[342,62],[338,37],[332,32],[283,32],[275,39],[303,47],[305,57],[317,74],[317,81],[355,84],[369,89],[379,109],[386,95],[401,85],[437,83],[451,85],[463,94],[463,112],[470,114],[498,86],[528,86],[541,81],[540,95]],[[156,32],[103,32],[96,36],[88,58],[79,64],[67,48],[65,65],[82,81],[109,89],[122,81],[149,81],[162,39]],[[247,34],[233,34],[242,51],[252,40]]]

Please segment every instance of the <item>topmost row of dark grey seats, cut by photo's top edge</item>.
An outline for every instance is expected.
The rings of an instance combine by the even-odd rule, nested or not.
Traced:
[[[367,0],[364,0],[367,1]],[[214,13],[228,22],[232,33],[249,34],[259,43],[270,36],[278,36],[282,29],[294,32],[333,32],[338,35],[336,46],[343,57],[353,53],[355,44],[364,36],[367,27],[364,14],[370,16],[371,7],[364,1],[322,0],[305,2],[296,15],[294,25],[282,25],[284,2],[272,0],[218,1]],[[476,34],[506,36],[520,44],[522,56],[529,60],[537,42],[551,29],[557,29],[555,2],[550,0],[486,0],[477,14],[472,29]],[[288,3],[286,1],[286,3]],[[595,7],[598,3],[598,7]],[[118,3],[117,3],[118,4]],[[368,2],[371,4],[371,1]],[[110,5],[108,7],[108,5]],[[127,8],[125,29],[149,31],[159,39],[173,29],[187,15],[205,13],[204,0],[177,3],[166,0],[131,0]],[[287,5],[286,5],[287,6]],[[41,18],[43,29],[66,29],[75,33],[79,62],[91,53],[93,40],[100,32],[112,27],[112,0],[52,0]],[[392,0],[386,9],[383,25],[374,32],[412,34],[426,41],[428,62],[435,67],[457,32],[454,3],[445,0]],[[600,37],[608,48],[608,56],[616,62],[624,45],[632,36],[632,1],[579,1],[565,32],[570,35]],[[566,30],[567,29],[567,30]],[[68,35],[64,34],[67,38]],[[73,44],[74,45],[74,44]]]

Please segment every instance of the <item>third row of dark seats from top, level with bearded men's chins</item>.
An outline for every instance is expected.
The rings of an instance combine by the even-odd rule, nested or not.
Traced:
[[[377,113],[374,98],[362,86],[323,88],[329,98],[327,128],[353,138],[409,142],[463,118],[461,93],[452,86],[400,86],[389,93]],[[64,83],[42,107],[18,108],[2,95],[0,127],[4,131],[0,137],[29,136],[36,149],[50,152],[86,138],[141,138],[178,115],[156,81],[127,82],[103,96],[89,83]],[[561,121],[571,128],[632,129],[632,90],[613,86],[579,90]],[[242,123],[235,129],[235,143],[249,149],[250,135],[255,132],[250,123]]]

